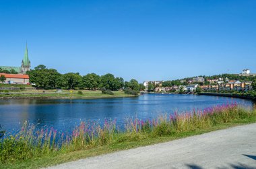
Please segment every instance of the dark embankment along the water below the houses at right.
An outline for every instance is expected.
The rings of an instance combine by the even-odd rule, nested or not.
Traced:
[[[247,100],[256,100],[255,96],[251,96],[250,94],[232,94],[232,93],[213,93],[213,92],[201,92],[199,95],[205,96],[222,96],[222,97],[229,97],[229,98],[243,98]]]

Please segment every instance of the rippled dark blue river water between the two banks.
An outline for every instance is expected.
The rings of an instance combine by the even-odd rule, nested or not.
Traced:
[[[17,129],[24,121],[67,131],[81,120],[117,119],[121,124],[128,117],[151,119],[162,113],[203,109],[216,104],[236,102],[252,106],[251,100],[219,96],[180,94],[145,94],[136,98],[96,100],[0,100],[0,124],[7,130]]]

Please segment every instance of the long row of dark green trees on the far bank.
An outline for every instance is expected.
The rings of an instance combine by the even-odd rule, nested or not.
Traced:
[[[79,73],[61,74],[56,69],[48,69],[45,65],[38,65],[33,70],[28,71],[30,83],[36,88],[55,89],[64,88],[66,90],[74,88],[84,88],[86,90],[131,90],[139,92],[143,90],[143,85],[137,80],[131,79],[124,81],[122,77],[115,77],[113,74],[97,75],[96,73],[88,73],[87,75],[79,75]]]

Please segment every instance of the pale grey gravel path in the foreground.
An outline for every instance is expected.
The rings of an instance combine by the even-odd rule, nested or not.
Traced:
[[[256,123],[51,168],[256,168]]]

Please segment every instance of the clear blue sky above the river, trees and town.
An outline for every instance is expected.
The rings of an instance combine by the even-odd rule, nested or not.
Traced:
[[[0,1],[0,65],[125,80],[256,73],[256,1]]]

